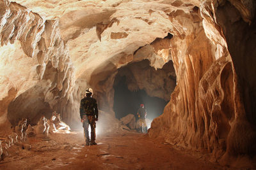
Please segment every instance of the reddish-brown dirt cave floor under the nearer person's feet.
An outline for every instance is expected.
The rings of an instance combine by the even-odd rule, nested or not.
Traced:
[[[31,149],[12,146],[0,169],[229,169],[209,162],[207,155],[173,148],[137,132],[99,135],[93,146],[82,145],[82,132],[28,141]]]

